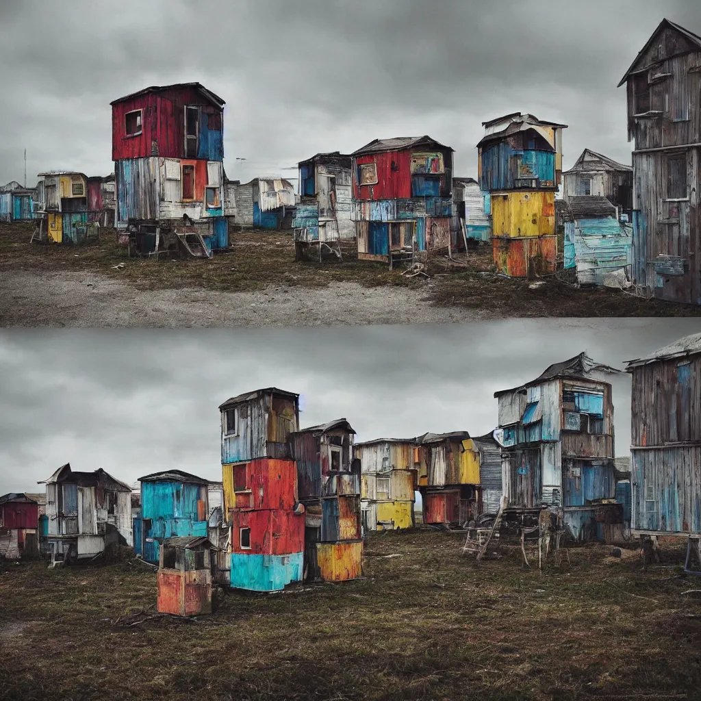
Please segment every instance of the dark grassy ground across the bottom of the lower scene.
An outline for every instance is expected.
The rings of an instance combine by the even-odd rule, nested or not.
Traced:
[[[132,557],[0,565],[0,699],[698,698],[683,550],[643,572],[634,550],[571,548],[540,572],[518,550],[476,564],[462,544],[372,534],[361,580],[229,592],[194,620],[149,618],[156,575]]]

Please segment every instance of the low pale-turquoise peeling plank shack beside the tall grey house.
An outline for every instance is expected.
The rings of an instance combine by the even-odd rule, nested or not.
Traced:
[[[627,287],[631,277],[633,226],[602,196],[569,198],[571,221],[564,225],[564,268],[574,268],[579,285]]]

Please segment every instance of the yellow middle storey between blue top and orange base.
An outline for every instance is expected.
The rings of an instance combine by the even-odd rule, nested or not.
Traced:
[[[554,192],[494,193],[491,196],[494,236],[554,236]]]

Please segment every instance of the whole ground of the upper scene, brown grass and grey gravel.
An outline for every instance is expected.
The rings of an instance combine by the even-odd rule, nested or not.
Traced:
[[[508,317],[687,316],[697,306],[646,301],[496,275],[489,247],[429,261],[430,278],[384,264],[294,260],[290,233],[233,232],[209,260],[129,259],[114,231],[80,247],[30,244],[32,226],[0,224],[0,325],[221,327],[465,322]]]

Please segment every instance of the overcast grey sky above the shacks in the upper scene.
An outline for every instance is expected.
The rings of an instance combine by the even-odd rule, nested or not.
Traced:
[[[512,111],[569,124],[566,168],[629,163],[616,85],[663,17],[701,33],[698,0],[4,0],[0,183],[25,147],[29,184],[107,175],[109,102],[187,81],[226,100],[232,178],[423,134],[475,176],[482,121]]]

